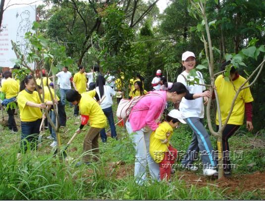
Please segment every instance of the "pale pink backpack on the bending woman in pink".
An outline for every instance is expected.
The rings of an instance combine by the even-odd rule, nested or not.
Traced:
[[[159,94],[147,94],[145,96],[152,96],[156,95],[162,98]],[[119,102],[119,105],[117,107],[116,116],[119,119],[125,119],[128,118],[131,112],[141,111],[141,110],[148,110],[148,108],[145,109],[139,109],[132,111],[132,108],[136,105],[136,103],[139,102],[143,97],[145,96],[135,96],[132,99],[121,99]]]

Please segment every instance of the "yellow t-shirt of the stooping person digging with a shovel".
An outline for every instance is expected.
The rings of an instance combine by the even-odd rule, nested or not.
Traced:
[[[100,105],[86,92],[81,94],[79,110],[81,115],[88,115],[90,126],[104,128],[106,126],[106,116]]]

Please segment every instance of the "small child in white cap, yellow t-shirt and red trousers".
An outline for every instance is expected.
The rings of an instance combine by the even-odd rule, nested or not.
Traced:
[[[179,121],[186,123],[182,119],[180,111],[171,110],[166,116],[166,121],[160,123],[156,131],[152,132],[150,136],[149,153],[154,161],[159,163],[161,180],[169,180],[171,166],[177,157],[177,150],[170,145],[169,141],[173,129],[178,126]]]

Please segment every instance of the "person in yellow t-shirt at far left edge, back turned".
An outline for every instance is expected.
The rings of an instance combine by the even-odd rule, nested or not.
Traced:
[[[19,86],[16,80],[12,79],[12,73],[10,71],[5,71],[3,73],[6,81],[2,84],[1,91],[5,93],[5,99],[2,104],[7,106],[10,102],[15,102],[16,96],[19,92]],[[8,114],[8,128],[11,132],[17,132],[18,129],[16,127],[16,121],[14,118],[15,109],[11,109],[10,107],[7,110]]]

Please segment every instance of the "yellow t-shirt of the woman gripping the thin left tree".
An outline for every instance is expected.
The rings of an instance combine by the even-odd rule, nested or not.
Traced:
[[[42,118],[42,112],[40,108],[27,106],[26,103],[30,101],[40,104],[41,100],[37,91],[33,91],[32,94],[23,90],[20,91],[17,96],[18,108],[20,110],[21,121],[36,121]]]

